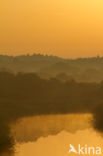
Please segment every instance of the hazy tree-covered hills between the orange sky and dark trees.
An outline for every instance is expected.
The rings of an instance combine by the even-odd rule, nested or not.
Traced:
[[[46,79],[56,77],[62,81],[100,82],[103,80],[103,57],[63,59],[40,54],[16,57],[0,55],[0,71],[4,70],[34,72]]]

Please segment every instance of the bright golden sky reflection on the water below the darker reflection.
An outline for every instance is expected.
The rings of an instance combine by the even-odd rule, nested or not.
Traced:
[[[103,139],[92,129],[79,130],[74,134],[62,131],[56,136],[41,137],[36,142],[18,144],[15,156],[69,156],[69,144],[77,147],[78,143],[103,147]]]

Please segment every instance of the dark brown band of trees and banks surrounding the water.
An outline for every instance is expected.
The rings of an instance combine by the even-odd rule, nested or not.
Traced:
[[[13,148],[11,122],[23,116],[59,113],[93,113],[94,127],[103,131],[103,82],[62,82],[34,73],[0,72],[0,152]]]

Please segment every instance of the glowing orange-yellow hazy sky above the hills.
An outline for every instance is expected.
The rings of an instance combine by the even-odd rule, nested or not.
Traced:
[[[103,0],[0,0],[0,53],[103,55]]]

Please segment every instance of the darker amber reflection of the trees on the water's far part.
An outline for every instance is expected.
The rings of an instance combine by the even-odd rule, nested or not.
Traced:
[[[40,115],[25,117],[12,125],[12,135],[17,142],[36,141],[40,137],[56,135],[65,130],[75,133],[91,127],[90,114]]]

